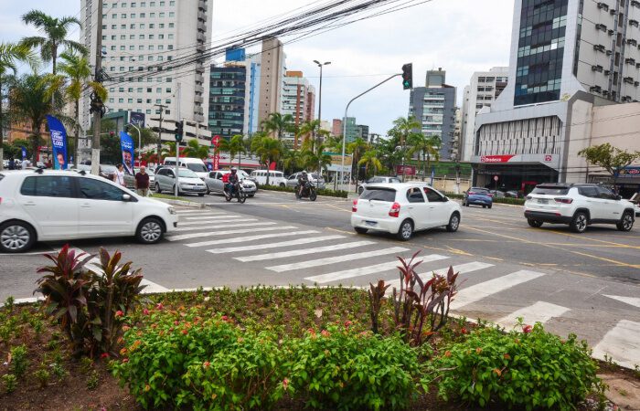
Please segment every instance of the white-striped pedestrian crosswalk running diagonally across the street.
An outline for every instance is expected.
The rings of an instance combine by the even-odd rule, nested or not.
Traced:
[[[390,293],[394,287],[400,288],[397,257],[409,258],[416,251],[405,243],[404,247],[394,246],[386,239],[309,229],[291,221],[270,221],[215,209],[179,210],[178,214],[178,228],[167,240],[202,250],[214,261],[229,258],[246,264],[251,272],[265,273],[272,279],[272,285],[302,282],[368,289],[370,282],[385,279],[390,284]],[[477,314],[472,318],[494,321],[507,329],[516,326],[519,317],[529,324],[539,321],[560,327],[568,318],[579,322],[587,315],[580,307],[567,307],[571,304],[546,294],[555,280],[548,272],[460,255],[425,253],[418,259],[421,265],[417,271],[423,279],[433,272],[446,274],[449,267],[460,272],[460,290],[451,304],[454,313]],[[602,298],[620,304],[638,303],[637,299],[625,296]],[[499,301],[496,310],[486,311],[483,304],[488,300]],[[616,321],[599,341],[592,342],[594,353],[601,358],[605,353],[611,355],[618,364],[631,368],[640,364],[640,322],[636,322],[640,318],[633,320]],[[563,333],[568,332],[573,329]]]

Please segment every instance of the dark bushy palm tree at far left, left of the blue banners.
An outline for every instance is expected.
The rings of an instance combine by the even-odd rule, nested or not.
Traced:
[[[53,102],[48,99],[46,83],[37,74],[27,74],[16,79],[11,89],[9,113],[17,121],[31,125],[31,159],[37,160],[37,147],[40,141],[40,129],[47,114],[53,111]]]

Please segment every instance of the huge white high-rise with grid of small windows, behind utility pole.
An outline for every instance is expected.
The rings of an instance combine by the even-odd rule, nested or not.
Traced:
[[[81,0],[80,41],[91,50],[93,66],[97,10],[96,0]],[[104,1],[102,70],[108,76],[104,86],[109,91],[105,101],[109,111],[142,112],[146,126],[157,127],[160,109],[156,104],[162,104],[166,106],[164,140],[173,140],[173,134],[166,131],[173,130],[179,120],[187,121],[187,137],[208,139],[208,59],[183,68],[174,65],[181,64],[181,58],[204,56],[211,42],[211,13],[210,0]],[[81,102],[84,130],[91,122],[88,97],[85,94]]]

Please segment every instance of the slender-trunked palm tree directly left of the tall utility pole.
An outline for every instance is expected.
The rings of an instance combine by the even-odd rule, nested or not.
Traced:
[[[61,74],[50,74],[46,77],[49,93],[53,95],[61,91],[69,100],[75,103],[75,138],[73,163],[78,166],[78,142],[80,139],[80,97],[86,89],[93,90],[102,101],[107,99],[107,90],[97,81],[90,81],[91,67],[89,60],[77,53],[64,52],[60,55],[62,62],[59,64]]]

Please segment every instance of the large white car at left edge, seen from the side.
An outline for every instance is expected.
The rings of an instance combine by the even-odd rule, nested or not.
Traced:
[[[134,236],[158,242],[177,227],[174,207],[96,175],[23,170],[0,173],[0,251],[37,241]]]

